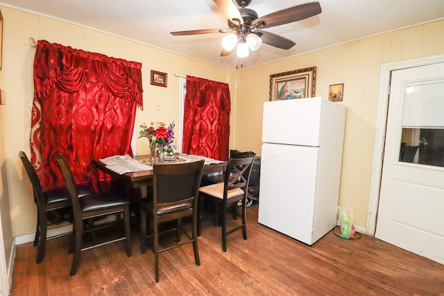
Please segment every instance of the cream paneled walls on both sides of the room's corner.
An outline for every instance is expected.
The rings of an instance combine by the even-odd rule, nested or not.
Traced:
[[[0,173],[8,183],[6,196],[10,197],[15,236],[35,231],[31,186],[17,157],[19,150],[29,153],[35,54],[30,37],[142,62],[144,110],[137,111],[136,127],[144,121],[178,121],[178,78],[173,73],[227,82],[232,98],[230,148],[253,150],[258,155],[262,144],[262,103],[268,100],[270,75],[316,66],[316,96],[327,97],[329,85],[345,85],[341,103],[348,110],[340,205],[352,207],[355,223],[364,227],[381,65],[444,53],[444,21],[436,21],[234,72],[64,21],[3,6],[0,9],[5,19],[0,88],[6,97],[6,105],[0,106],[5,143],[0,147],[4,149],[4,159],[0,161],[2,167],[6,165],[6,173],[3,169]],[[167,88],[150,85],[151,69],[169,74]],[[162,103],[160,111],[155,110],[156,101]],[[137,154],[148,153],[144,140],[136,141]]]

